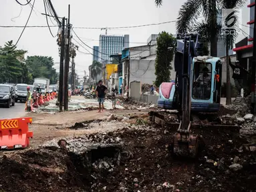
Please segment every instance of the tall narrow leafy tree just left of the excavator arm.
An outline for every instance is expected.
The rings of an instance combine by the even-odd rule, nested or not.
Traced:
[[[156,71],[154,73],[156,75],[156,81],[154,82],[156,87],[159,87],[162,82],[170,81],[171,61],[174,55],[175,44],[176,39],[171,34],[165,31],[159,33],[156,39]]]

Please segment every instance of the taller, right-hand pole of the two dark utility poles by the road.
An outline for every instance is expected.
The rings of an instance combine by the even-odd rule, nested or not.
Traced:
[[[70,5],[68,5],[68,35],[66,39],[66,59],[64,71],[64,110],[68,110],[68,71],[70,67]]]

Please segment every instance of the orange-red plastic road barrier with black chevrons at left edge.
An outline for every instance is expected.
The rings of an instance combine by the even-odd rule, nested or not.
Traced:
[[[0,119],[0,149],[29,147],[29,138],[33,137],[29,123],[32,123],[31,117]]]

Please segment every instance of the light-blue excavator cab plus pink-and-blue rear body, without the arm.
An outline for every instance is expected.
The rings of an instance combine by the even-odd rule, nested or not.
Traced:
[[[192,62],[191,111],[217,112],[221,102],[222,63],[218,57],[197,56]],[[176,78],[177,81],[177,78]],[[159,87],[158,108],[180,109],[176,99],[176,81],[162,83]]]

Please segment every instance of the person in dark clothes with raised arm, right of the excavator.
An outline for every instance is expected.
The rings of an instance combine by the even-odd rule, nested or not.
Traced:
[[[243,68],[239,61],[235,61],[235,65],[231,63],[231,59],[229,57],[229,65],[233,69],[233,76],[232,78],[235,81],[235,87],[237,88],[238,95],[241,95],[241,89],[243,89],[243,76],[244,73],[249,73],[245,68]]]

